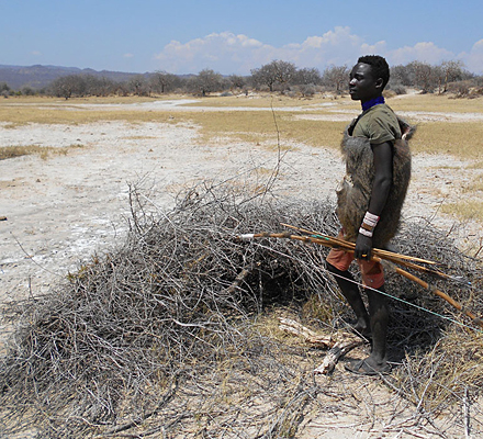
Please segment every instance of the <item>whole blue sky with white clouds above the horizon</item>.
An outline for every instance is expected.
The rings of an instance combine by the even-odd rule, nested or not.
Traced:
[[[0,64],[248,75],[297,67],[460,59],[483,74],[483,1],[0,0]]]

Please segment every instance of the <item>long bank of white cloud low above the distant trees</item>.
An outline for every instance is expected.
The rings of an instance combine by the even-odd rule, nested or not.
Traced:
[[[231,32],[212,33],[187,43],[171,41],[155,55],[159,69],[173,74],[198,72],[211,68],[222,74],[247,75],[273,59],[294,63],[297,67],[316,67],[321,70],[329,65],[352,65],[366,54],[380,54],[390,64],[406,64],[420,60],[437,64],[448,59],[462,59],[470,70],[483,69],[483,40],[475,43],[470,53],[456,55],[431,42],[414,46],[389,48],[386,42],[368,43],[351,33],[348,26],[337,26],[323,35],[307,37],[302,43],[276,47],[247,35]]]

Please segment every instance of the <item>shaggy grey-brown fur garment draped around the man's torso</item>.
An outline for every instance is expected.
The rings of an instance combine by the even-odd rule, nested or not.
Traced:
[[[374,229],[372,244],[384,247],[396,234],[401,210],[406,198],[411,179],[411,151],[407,140],[413,136],[415,127],[397,117],[403,139],[394,143],[393,181],[381,218]],[[337,216],[345,229],[345,239],[356,241],[362,224],[374,180],[374,164],[371,144],[368,138],[349,136],[349,127],[344,133],[341,143],[346,161],[346,177],[337,191]]]

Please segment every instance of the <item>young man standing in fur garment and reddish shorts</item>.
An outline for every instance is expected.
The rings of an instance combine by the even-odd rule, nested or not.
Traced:
[[[372,248],[384,248],[395,235],[411,177],[411,154],[406,138],[411,128],[384,103],[382,91],[389,81],[384,58],[363,56],[350,72],[349,92],[361,101],[362,113],[349,125],[342,140],[347,175],[337,191],[340,237],[356,243],[353,254],[332,249],[327,269],[353,309],[353,329],[372,339],[371,354],[348,369],[360,374],[386,373],[389,311],[382,267],[370,260]],[[348,271],[357,259],[369,309]]]

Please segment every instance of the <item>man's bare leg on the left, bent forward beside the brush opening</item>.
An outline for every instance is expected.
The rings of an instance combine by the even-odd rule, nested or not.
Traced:
[[[332,263],[326,262],[327,270],[336,274],[334,278],[340,288],[340,291],[356,314],[357,323],[353,329],[361,335],[368,336],[371,331],[371,322],[366,305],[360,295],[359,286],[353,283],[353,278],[349,271],[341,271]]]

